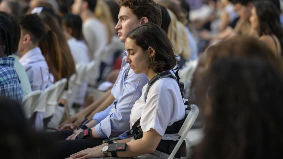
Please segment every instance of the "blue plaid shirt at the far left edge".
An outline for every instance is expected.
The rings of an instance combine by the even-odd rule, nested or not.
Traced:
[[[14,68],[15,59],[11,57],[0,58],[0,96],[22,102],[23,91],[18,75]]]

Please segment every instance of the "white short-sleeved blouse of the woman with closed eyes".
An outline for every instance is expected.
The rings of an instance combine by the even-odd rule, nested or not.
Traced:
[[[142,96],[135,102],[130,115],[130,129],[141,118],[140,126],[143,132],[150,128],[162,136],[163,140],[178,140],[178,134],[166,134],[167,126],[185,116],[185,105],[175,79],[166,77],[156,81],[150,88],[145,101],[146,87]]]

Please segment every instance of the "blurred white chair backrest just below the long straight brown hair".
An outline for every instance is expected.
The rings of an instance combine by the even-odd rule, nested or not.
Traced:
[[[47,98],[46,108],[45,108],[44,117],[43,117],[44,119],[51,117],[54,114],[55,108],[59,104],[59,99],[63,93],[66,83],[67,83],[67,79],[62,78],[53,84],[55,89],[53,93],[49,96],[49,98]]]

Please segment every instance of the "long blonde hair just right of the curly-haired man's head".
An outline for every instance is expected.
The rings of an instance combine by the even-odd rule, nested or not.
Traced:
[[[187,32],[183,23],[178,21],[175,14],[167,9],[171,22],[168,28],[167,36],[174,46],[175,53],[180,55],[183,59],[189,59],[191,55],[191,50],[189,48],[189,39],[187,37]]]

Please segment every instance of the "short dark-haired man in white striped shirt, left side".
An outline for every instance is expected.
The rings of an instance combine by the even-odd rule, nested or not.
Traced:
[[[19,17],[21,38],[18,51],[21,55],[19,62],[27,72],[31,90],[44,90],[51,86],[54,77],[49,72],[47,62],[38,44],[44,36],[45,29],[42,20],[36,14]]]

